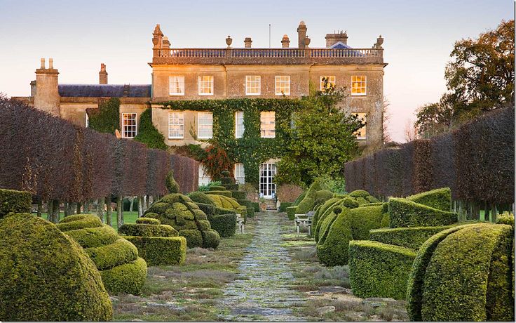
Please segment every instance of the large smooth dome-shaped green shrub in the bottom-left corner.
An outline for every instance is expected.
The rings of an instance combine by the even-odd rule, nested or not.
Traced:
[[[55,225],[25,214],[0,219],[0,320],[109,321],[100,274]]]

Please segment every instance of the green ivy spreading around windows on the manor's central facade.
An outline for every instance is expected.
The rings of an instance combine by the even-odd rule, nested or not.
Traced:
[[[259,183],[259,165],[271,158],[280,158],[290,143],[292,112],[301,107],[297,99],[238,98],[225,100],[174,100],[162,109],[209,111],[213,113],[213,138],[210,143],[226,150],[233,163],[242,163],[245,182]],[[235,138],[235,112],[244,112],[245,131]],[[276,138],[261,138],[260,112],[276,112]],[[202,162],[202,161],[201,161]]]

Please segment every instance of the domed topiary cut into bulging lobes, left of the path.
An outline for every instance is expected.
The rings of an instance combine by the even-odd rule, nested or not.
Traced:
[[[171,225],[180,236],[186,238],[189,248],[216,249],[219,246],[219,234],[212,230],[206,214],[186,195],[165,195],[145,211],[145,216]]]

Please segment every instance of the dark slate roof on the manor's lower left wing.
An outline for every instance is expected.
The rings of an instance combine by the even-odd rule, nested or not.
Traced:
[[[59,84],[59,95],[65,98],[150,98],[151,85],[126,85],[128,95],[124,95],[124,84]]]

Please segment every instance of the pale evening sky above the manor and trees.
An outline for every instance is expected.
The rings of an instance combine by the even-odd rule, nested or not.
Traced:
[[[40,58],[53,58],[60,83],[97,84],[100,63],[111,84],[150,84],[151,37],[159,23],[172,47],[297,45],[306,22],[311,47],[325,34],[347,30],[348,45],[369,48],[379,34],[388,62],[384,95],[388,128],[404,141],[407,119],[446,90],[444,67],[454,41],[477,37],[514,16],[511,0],[362,1],[11,1],[0,0],[0,92],[30,94]]]

